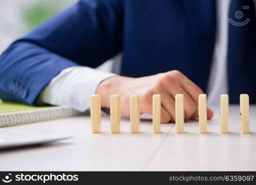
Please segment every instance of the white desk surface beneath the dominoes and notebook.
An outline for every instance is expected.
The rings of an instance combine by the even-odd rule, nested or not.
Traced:
[[[110,134],[108,116],[102,133],[92,134],[89,117],[74,117],[12,126],[10,130],[72,134],[73,138],[43,146],[0,151],[1,171],[24,170],[256,170],[256,106],[250,106],[250,134],[240,134],[239,107],[229,108],[229,134],[220,134],[218,108],[199,134],[197,121],[185,123],[184,134],[175,125],[162,124],[152,134],[151,121],[141,122],[141,133],[130,134],[128,119],[122,133]]]

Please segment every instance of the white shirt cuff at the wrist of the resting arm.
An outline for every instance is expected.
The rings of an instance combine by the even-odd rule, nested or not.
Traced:
[[[67,105],[75,110],[89,109],[91,94],[96,93],[101,81],[116,76],[89,67],[68,67],[55,76],[41,92],[38,102]]]

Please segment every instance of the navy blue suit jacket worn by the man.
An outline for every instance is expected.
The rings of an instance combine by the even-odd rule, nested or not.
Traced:
[[[121,74],[180,70],[204,91],[215,44],[215,0],[84,0],[12,43],[0,57],[0,97],[35,104],[61,70],[97,67],[123,52]],[[241,65],[244,67],[241,68]],[[240,93],[256,102],[255,76],[228,69],[230,102]],[[242,76],[242,77],[241,77]],[[232,86],[231,86],[232,84]]]

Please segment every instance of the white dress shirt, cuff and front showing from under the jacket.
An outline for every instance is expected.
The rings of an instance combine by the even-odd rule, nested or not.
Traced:
[[[208,104],[219,104],[220,95],[228,93],[227,43],[230,0],[217,0],[217,37],[207,86]],[[52,79],[39,96],[39,102],[68,105],[73,109],[89,109],[89,96],[101,81],[114,73],[100,72],[89,67],[70,67]]]

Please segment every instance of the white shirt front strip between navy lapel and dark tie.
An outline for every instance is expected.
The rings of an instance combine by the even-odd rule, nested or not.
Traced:
[[[230,0],[217,0],[217,33],[212,58],[212,67],[207,86],[210,105],[220,103],[220,95],[228,94],[228,12]]]

